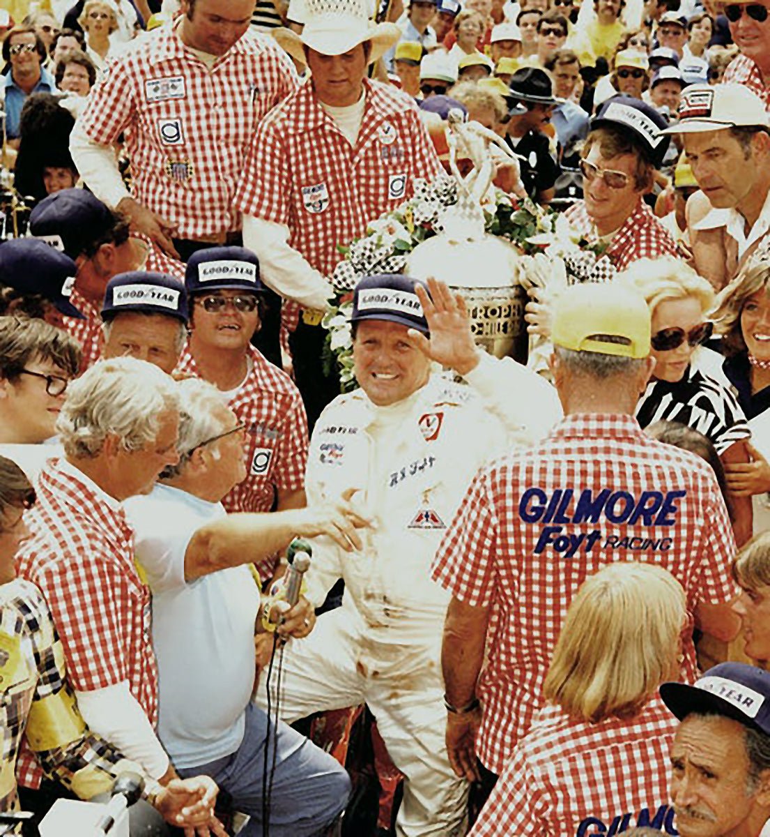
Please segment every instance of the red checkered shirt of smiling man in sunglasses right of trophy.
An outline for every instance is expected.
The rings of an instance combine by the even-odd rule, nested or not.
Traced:
[[[587,239],[596,238],[594,222],[589,218],[585,201],[574,203],[564,213],[579,234]],[[676,241],[662,223],[655,218],[650,207],[640,200],[633,213],[614,234],[612,244],[604,255],[618,270],[625,270],[636,259],[657,259],[658,256],[676,256]]]

